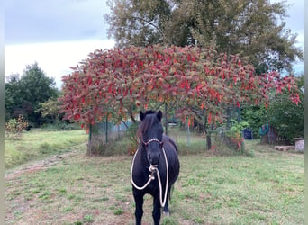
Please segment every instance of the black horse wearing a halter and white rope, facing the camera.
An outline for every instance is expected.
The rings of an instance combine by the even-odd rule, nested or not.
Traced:
[[[140,112],[140,127],[137,131],[140,146],[131,165],[131,183],[136,204],[137,225],[141,224],[143,196],[146,193],[153,196],[154,224],[159,224],[161,207],[164,213],[169,213],[170,189],[179,174],[177,145],[168,136],[163,135],[161,118],[160,111]]]

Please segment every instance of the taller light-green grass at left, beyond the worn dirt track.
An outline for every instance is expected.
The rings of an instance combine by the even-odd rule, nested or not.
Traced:
[[[5,168],[66,152],[75,145],[85,143],[86,139],[84,130],[24,131],[21,140],[5,139]]]

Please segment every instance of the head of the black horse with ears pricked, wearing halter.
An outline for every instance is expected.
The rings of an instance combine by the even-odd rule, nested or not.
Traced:
[[[158,165],[160,149],[163,142],[163,127],[161,125],[162,112],[140,112],[140,127],[138,136],[146,150],[150,165]]]

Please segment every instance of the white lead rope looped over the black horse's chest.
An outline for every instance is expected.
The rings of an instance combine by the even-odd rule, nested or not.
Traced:
[[[166,153],[165,153],[165,148],[163,147],[162,150],[163,150],[163,153],[164,153],[164,157],[165,157],[165,162],[166,162],[166,189],[165,189],[165,196],[164,196],[164,201],[162,201],[162,186],[161,186],[161,180],[160,180],[160,175],[159,175],[159,169],[158,169],[158,166],[157,165],[150,165],[149,166],[149,172],[151,172],[151,174],[149,175],[149,180],[146,184],[144,184],[143,186],[138,186],[137,184],[135,184],[133,182],[133,179],[132,179],[132,170],[133,170],[133,165],[134,165],[134,162],[135,162],[135,157],[138,153],[138,150],[139,148],[137,149],[133,159],[132,159],[132,164],[131,164],[131,184],[138,190],[143,190],[144,188],[146,188],[149,183],[155,179],[153,173],[154,171],[157,172],[158,174],[158,179],[159,179],[159,201],[160,201],[160,205],[161,207],[164,207],[165,204],[166,204],[166,200],[167,200],[167,192],[168,192],[168,179],[169,179],[169,170],[168,170],[168,161],[167,161],[167,157],[166,157]]]

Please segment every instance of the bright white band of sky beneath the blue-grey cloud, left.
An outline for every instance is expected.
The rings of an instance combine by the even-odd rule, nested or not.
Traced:
[[[113,46],[113,40],[6,45],[5,76],[17,73],[23,75],[23,70],[27,65],[37,62],[46,76],[55,79],[57,87],[60,89],[61,77],[71,73],[69,67],[77,66],[95,49],[112,49]]]

